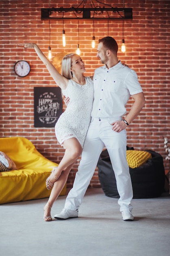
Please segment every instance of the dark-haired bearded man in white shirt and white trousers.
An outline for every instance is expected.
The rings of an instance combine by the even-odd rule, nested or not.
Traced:
[[[112,37],[99,40],[97,57],[105,64],[94,72],[94,103],[78,172],[68,193],[65,207],[54,218],[78,217],[78,208],[94,174],[104,147],[107,148],[115,173],[123,220],[133,220],[133,190],[126,160],[126,127],[142,110],[145,99],[137,74],[118,61],[118,45]],[[133,106],[126,115],[126,103],[133,97]]]

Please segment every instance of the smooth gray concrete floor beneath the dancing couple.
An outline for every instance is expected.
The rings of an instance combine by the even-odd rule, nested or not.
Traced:
[[[52,217],[64,206],[60,196]],[[47,199],[0,205],[1,256],[170,255],[170,195],[133,199],[133,222],[122,220],[118,199],[88,189],[79,217],[43,221]]]

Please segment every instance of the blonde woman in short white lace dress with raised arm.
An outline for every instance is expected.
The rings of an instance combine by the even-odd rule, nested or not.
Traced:
[[[55,125],[57,140],[65,148],[59,166],[53,168],[46,180],[47,189],[52,189],[44,207],[44,221],[51,221],[51,208],[61,193],[70,170],[81,155],[87,129],[89,127],[94,99],[93,77],[85,77],[85,65],[77,54],[68,54],[62,60],[62,75],[41,52],[35,43],[24,43],[24,49],[34,48],[46,65],[49,73],[70,102]]]

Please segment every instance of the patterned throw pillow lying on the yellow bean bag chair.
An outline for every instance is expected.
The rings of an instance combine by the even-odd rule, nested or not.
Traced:
[[[0,171],[3,172],[12,170],[17,170],[17,166],[8,155],[0,151]]]

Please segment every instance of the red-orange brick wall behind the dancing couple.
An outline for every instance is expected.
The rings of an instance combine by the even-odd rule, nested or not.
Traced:
[[[122,0],[100,0],[113,7],[123,7]],[[59,3],[59,4],[56,4]],[[77,6],[81,0],[50,0],[50,7]],[[93,2],[96,2],[95,0]],[[114,4],[113,4],[114,2]],[[124,7],[133,8],[133,20],[124,21],[126,53],[118,58],[133,68],[144,90],[146,105],[140,115],[127,128],[128,145],[137,150],[151,149],[165,160],[164,137],[170,141],[170,2],[167,0],[125,0]],[[34,127],[34,87],[56,86],[46,67],[33,49],[23,50],[18,43],[35,42],[47,55],[49,45],[48,20],[41,20],[41,8],[48,8],[49,0],[0,0],[0,137],[22,136],[30,139],[37,150],[48,159],[59,162],[63,148],[59,146],[54,128]],[[89,1],[87,1],[88,7]],[[102,6],[102,4],[99,4]],[[62,46],[63,22],[51,22],[51,48],[53,56],[74,52],[78,43],[77,20],[65,21],[66,47]],[[95,21],[96,41],[113,36],[120,47],[122,21]],[[99,67],[96,49],[91,48],[92,20],[79,21],[79,44],[85,61],[86,75]],[[15,75],[16,61],[26,60],[31,65],[28,76]],[[129,101],[127,110],[133,101]],[[64,106],[63,106],[64,109]],[[72,169],[68,186],[72,186],[78,162]],[[100,186],[95,172],[91,186]]]

